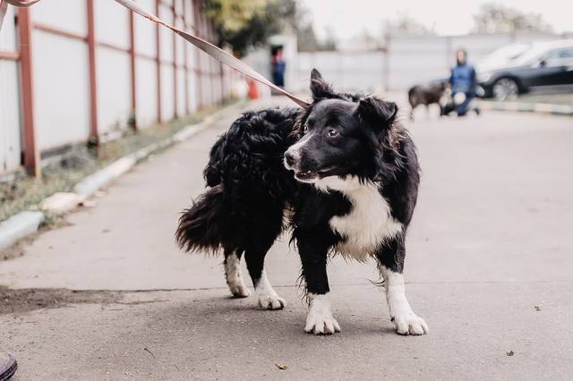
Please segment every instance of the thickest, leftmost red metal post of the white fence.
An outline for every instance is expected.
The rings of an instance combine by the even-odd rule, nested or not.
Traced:
[[[41,175],[34,126],[34,76],[32,69],[32,20],[29,8],[18,10],[20,38],[21,97],[23,114],[24,167],[28,174]]]

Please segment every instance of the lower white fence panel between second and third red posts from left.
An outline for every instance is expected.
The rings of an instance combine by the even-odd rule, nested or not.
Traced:
[[[98,131],[124,130],[132,114],[132,77],[127,53],[97,49]]]

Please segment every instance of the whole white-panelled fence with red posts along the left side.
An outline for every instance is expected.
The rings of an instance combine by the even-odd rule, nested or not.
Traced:
[[[213,40],[201,0],[140,0]],[[133,125],[192,114],[227,98],[235,75],[183,38],[105,0],[9,8],[0,32],[0,174],[40,154]]]

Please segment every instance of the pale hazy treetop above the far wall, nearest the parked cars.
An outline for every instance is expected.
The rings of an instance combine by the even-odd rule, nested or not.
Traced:
[[[474,30],[480,33],[515,33],[517,31],[551,31],[540,13],[523,13],[503,4],[483,4],[474,14]]]

